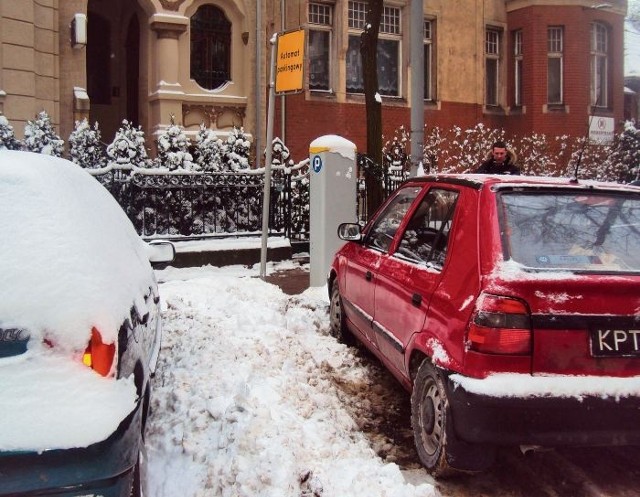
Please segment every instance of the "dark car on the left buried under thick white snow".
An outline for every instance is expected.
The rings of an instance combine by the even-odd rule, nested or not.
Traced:
[[[93,177],[0,151],[0,495],[139,495],[160,350],[146,244]]]

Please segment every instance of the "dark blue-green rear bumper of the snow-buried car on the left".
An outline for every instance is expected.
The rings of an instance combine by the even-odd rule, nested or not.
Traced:
[[[138,402],[109,438],[88,447],[0,453],[0,496],[128,497],[141,443],[141,407]]]

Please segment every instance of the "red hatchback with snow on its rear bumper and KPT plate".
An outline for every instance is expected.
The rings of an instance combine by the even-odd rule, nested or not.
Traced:
[[[331,328],[411,392],[432,473],[504,445],[640,444],[640,188],[421,177],[338,234]]]

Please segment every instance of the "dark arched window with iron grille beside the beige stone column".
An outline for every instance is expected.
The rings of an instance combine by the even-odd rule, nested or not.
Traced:
[[[213,5],[191,17],[191,78],[208,90],[231,79],[231,22]]]

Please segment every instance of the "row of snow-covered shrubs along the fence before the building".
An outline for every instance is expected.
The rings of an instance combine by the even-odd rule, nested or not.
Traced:
[[[55,134],[45,111],[25,126],[24,140],[15,138],[8,120],[0,114],[0,149],[25,149],[62,156],[64,141]],[[473,171],[491,150],[503,140],[515,153],[523,174],[573,176],[628,182],[640,178],[640,130],[627,121],[611,145],[599,145],[584,137],[546,136],[531,133],[506,136],[503,129],[482,123],[473,128],[453,126],[451,129],[425,127],[423,168],[427,172]],[[386,142],[383,165],[387,174],[401,176],[409,165],[407,149],[409,133],[398,128]],[[153,168],[188,172],[240,172],[252,168],[251,142],[243,128],[234,127],[226,136],[218,135],[202,124],[191,142],[181,126],[174,122],[157,138],[157,157],[151,160],[144,131],[126,120],[110,144],[101,142],[98,123],[76,122],[69,136],[69,158],[87,168],[114,165],[121,169]],[[274,164],[293,163],[288,149],[279,139],[273,144]],[[286,157],[282,152],[286,150]]]

